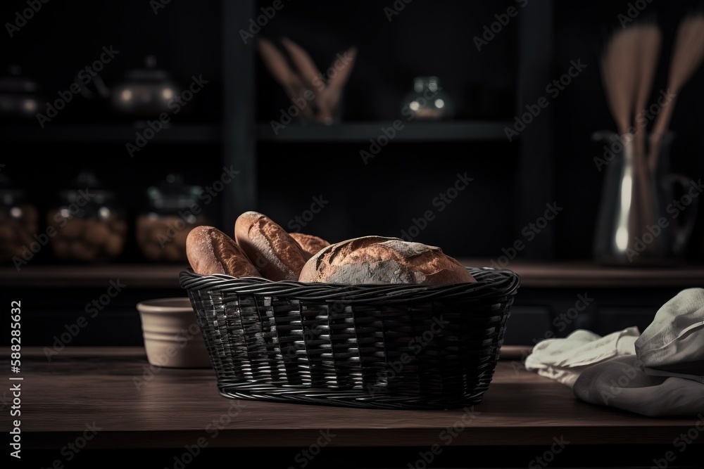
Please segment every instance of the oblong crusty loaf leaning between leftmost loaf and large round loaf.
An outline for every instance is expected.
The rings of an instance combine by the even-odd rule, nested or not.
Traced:
[[[261,276],[272,281],[298,280],[308,259],[289,233],[259,212],[244,212],[237,217],[234,239]]]

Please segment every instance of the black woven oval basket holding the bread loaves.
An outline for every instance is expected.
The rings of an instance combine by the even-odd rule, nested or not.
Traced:
[[[180,274],[225,397],[382,409],[479,404],[520,277],[334,285]]]

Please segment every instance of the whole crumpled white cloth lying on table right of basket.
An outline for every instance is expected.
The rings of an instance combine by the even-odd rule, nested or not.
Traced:
[[[704,414],[704,288],[682,290],[640,334],[576,330],[539,342],[526,368],[572,387],[591,404],[643,416]]]

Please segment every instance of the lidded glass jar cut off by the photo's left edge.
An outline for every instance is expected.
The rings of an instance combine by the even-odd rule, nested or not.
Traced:
[[[37,207],[27,202],[25,191],[0,188],[0,259],[9,261],[13,257],[23,259],[23,251],[36,252],[34,235],[39,229]]]

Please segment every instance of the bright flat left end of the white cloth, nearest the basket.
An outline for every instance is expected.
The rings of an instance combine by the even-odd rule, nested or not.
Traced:
[[[637,327],[619,330],[604,337],[589,330],[578,329],[566,338],[538,342],[526,357],[525,367],[572,387],[580,373],[589,366],[615,356],[635,355],[634,344],[639,335]]]

